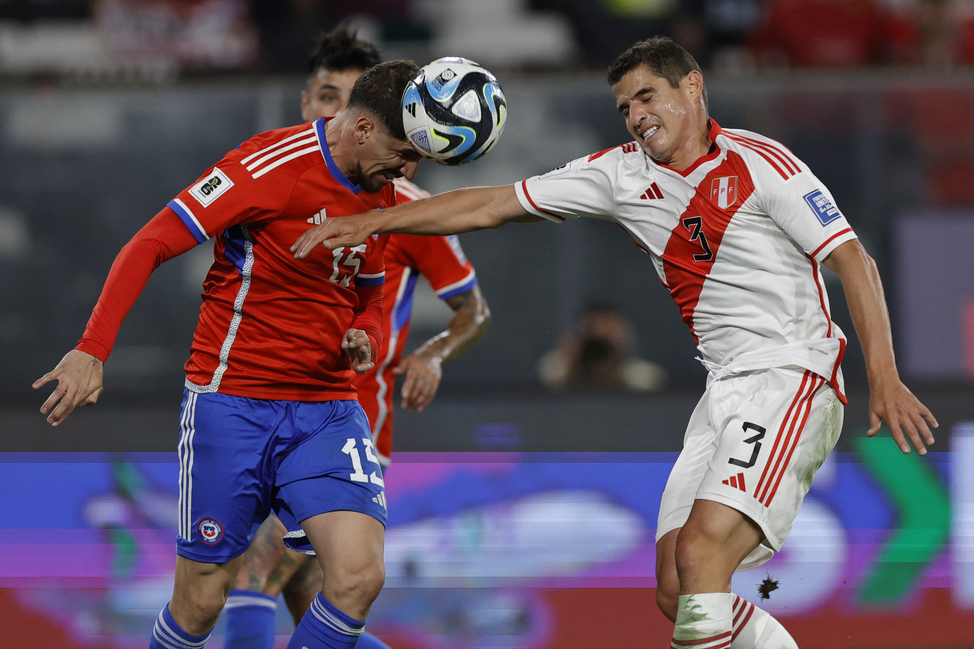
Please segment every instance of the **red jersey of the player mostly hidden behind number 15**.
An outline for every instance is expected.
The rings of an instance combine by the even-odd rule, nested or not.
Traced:
[[[430,196],[409,181],[396,178],[398,203]],[[466,293],[477,283],[460,241],[454,236],[391,234],[386,247],[386,284],[382,306],[382,350],[376,369],[356,377],[358,402],[372,425],[379,459],[389,464],[393,452],[393,370],[409,337],[416,280],[423,275],[443,300]]]

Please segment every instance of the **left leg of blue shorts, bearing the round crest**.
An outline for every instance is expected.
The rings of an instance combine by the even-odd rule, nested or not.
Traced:
[[[185,395],[177,447],[181,557],[224,563],[244,554],[270,510],[273,482],[261,468],[270,431],[251,402],[219,393]]]

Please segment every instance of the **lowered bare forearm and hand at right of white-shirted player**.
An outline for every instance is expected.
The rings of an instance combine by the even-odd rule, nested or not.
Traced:
[[[869,376],[869,423],[867,435],[872,437],[885,421],[900,450],[908,453],[910,438],[920,455],[926,454],[926,444],[933,444],[930,426],[939,424],[913,392],[903,384],[896,370],[893,355],[893,336],[889,326],[889,311],[882,292],[880,272],[858,240],[846,241],[832,251],[822,264],[843,280],[852,324],[866,357]]]

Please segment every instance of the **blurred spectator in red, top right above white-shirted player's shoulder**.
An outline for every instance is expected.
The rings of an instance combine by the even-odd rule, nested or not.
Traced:
[[[769,0],[750,45],[759,65],[858,67],[890,59],[890,26],[873,0]]]

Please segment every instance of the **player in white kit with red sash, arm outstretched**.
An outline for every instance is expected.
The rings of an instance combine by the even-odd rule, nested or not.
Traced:
[[[656,601],[678,649],[783,649],[795,641],[731,593],[736,570],[781,549],[842,429],[846,339],[820,266],[843,281],[866,358],[870,435],[933,444],[933,415],[899,379],[876,265],[828,189],[782,144],[709,119],[693,56],[666,38],[609,69],[634,142],[513,186],[448,192],[328,219],[295,242],[356,245],[373,233],[457,234],[589,216],[652,259],[709,371],[656,529]],[[929,424],[929,425],[928,425]]]

